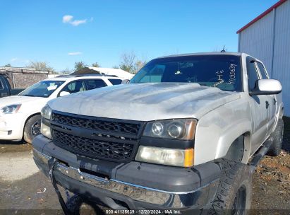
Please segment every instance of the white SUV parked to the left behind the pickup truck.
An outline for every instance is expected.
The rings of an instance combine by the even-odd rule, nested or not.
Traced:
[[[59,76],[35,83],[18,95],[0,99],[0,139],[28,143],[40,134],[40,110],[59,96],[120,84],[113,76]]]

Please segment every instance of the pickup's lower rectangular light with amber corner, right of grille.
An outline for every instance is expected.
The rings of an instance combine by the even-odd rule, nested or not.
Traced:
[[[193,149],[166,149],[152,146],[139,146],[136,161],[174,165],[193,166]]]

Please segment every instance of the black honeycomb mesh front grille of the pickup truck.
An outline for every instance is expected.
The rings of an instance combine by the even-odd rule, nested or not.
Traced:
[[[142,122],[52,113],[52,141],[81,156],[115,162],[135,157]]]

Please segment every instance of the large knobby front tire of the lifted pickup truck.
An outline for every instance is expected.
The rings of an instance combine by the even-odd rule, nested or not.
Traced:
[[[247,214],[252,196],[250,168],[236,161],[222,159],[222,176],[215,199],[207,214]]]

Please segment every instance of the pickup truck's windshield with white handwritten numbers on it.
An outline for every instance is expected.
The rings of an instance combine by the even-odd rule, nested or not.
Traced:
[[[229,54],[153,59],[130,83],[199,83],[222,91],[241,91],[240,57]]]

